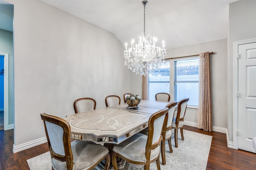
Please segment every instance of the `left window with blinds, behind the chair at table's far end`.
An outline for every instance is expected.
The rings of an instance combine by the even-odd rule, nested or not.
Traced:
[[[170,61],[161,64],[159,70],[149,75],[149,100],[156,100],[156,93],[170,93]]]

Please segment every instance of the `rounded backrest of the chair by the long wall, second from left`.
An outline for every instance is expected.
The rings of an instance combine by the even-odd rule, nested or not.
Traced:
[[[74,101],[75,113],[92,111],[96,108],[96,101],[92,98],[80,98]]]

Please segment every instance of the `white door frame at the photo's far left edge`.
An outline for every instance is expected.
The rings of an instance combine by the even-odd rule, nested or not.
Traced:
[[[9,129],[9,53],[4,55],[4,130]]]

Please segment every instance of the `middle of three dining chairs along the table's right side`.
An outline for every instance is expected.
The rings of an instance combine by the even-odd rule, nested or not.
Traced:
[[[168,110],[168,121],[167,121],[167,125],[166,125],[165,140],[161,141],[161,155],[162,155],[162,164],[163,165],[166,164],[166,161],[165,161],[165,143],[163,143],[166,140],[168,140],[170,152],[172,153],[172,142],[171,142],[171,138],[172,138],[172,121],[173,121],[174,111],[175,111],[175,107],[176,107],[177,103],[178,102],[172,102],[172,103],[170,103],[170,104],[168,104],[166,106],[166,107],[169,108],[169,110]]]

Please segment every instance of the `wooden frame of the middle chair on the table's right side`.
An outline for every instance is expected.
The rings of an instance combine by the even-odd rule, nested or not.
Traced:
[[[166,107],[168,107],[169,109],[176,106],[178,102],[172,102],[170,104],[168,104]],[[172,121],[173,121],[173,117],[174,117],[174,114],[172,116],[172,119],[169,118],[170,115],[168,115],[168,119],[171,121],[170,122],[170,126],[168,126],[168,121],[167,121],[167,124],[166,124],[166,132],[168,130],[171,130],[172,129]],[[168,127],[167,127],[168,126]],[[168,140],[168,144],[169,144],[169,148],[170,148],[170,152],[172,153],[172,142],[171,142],[171,138],[172,136],[168,137],[168,138],[165,138],[165,141]],[[162,164],[165,165],[166,164],[166,160],[165,160],[165,142],[164,140],[161,141],[161,155],[162,155]]]

